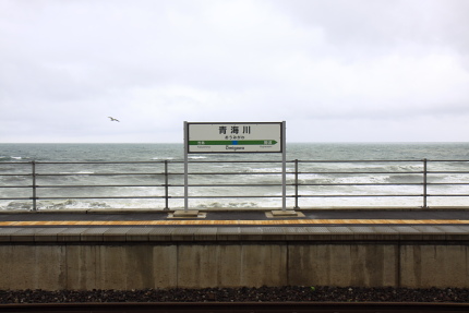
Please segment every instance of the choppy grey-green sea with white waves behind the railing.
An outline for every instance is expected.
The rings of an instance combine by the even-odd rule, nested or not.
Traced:
[[[0,210],[469,207],[469,143],[287,143],[285,174],[278,153],[188,172],[182,144],[0,144]]]

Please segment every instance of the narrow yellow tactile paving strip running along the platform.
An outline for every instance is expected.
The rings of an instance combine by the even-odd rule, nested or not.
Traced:
[[[277,220],[45,220],[0,221],[5,226],[279,226],[279,225],[469,225],[460,219],[277,219]]]

